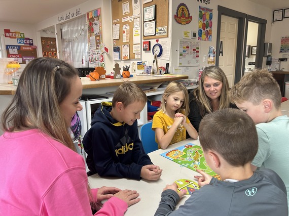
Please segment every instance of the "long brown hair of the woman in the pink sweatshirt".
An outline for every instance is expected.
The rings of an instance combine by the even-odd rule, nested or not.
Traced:
[[[5,132],[39,129],[76,151],[59,104],[78,77],[73,66],[59,59],[33,59],[24,68],[14,98],[2,115]]]

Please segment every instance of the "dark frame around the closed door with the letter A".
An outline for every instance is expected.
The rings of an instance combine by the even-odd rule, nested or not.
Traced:
[[[235,84],[241,79],[241,75],[242,75],[241,72],[243,71],[242,64],[243,64],[243,57],[244,57],[243,53],[244,53],[244,32],[245,32],[246,14],[218,5],[218,27],[217,27],[217,37],[216,37],[216,66],[219,66],[222,15],[238,19],[236,50],[237,51],[242,50],[242,52],[236,52],[235,80],[234,80],[234,84]]]

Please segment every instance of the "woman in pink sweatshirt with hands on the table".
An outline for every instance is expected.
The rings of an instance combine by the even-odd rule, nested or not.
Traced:
[[[67,128],[82,82],[78,71],[53,58],[32,60],[3,113],[0,137],[0,215],[123,215],[138,193],[114,187],[90,189],[82,156]]]

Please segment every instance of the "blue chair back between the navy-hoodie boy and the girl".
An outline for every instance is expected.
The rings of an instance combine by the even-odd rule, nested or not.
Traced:
[[[155,141],[155,132],[152,129],[153,122],[143,124],[140,128],[140,139],[144,151],[148,154],[158,150],[158,144]]]

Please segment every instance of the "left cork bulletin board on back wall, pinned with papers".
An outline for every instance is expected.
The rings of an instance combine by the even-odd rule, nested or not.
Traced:
[[[140,0],[112,0],[113,47],[120,52],[120,60],[141,58],[140,6]],[[129,50],[128,57],[123,53],[125,48]]]

